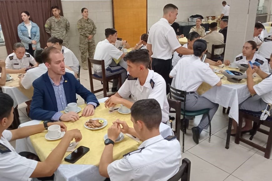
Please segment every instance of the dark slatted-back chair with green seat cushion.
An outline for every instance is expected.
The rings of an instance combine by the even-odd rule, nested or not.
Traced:
[[[183,115],[183,119],[182,119],[182,134],[183,134],[183,138],[182,138],[182,152],[184,152],[184,134],[185,134],[185,129],[186,129],[186,126],[185,126],[185,119],[186,119],[186,116],[187,117],[194,117],[194,116],[198,116],[198,115],[203,115],[203,114],[207,114],[208,115],[208,119],[209,119],[209,128],[210,128],[210,132],[209,132],[209,142],[211,140],[211,119],[210,119],[210,115],[209,115],[209,111],[210,109],[202,109],[202,110],[196,110],[196,111],[185,111],[185,103],[186,103],[186,95],[187,95],[187,92],[186,91],[183,91],[183,90],[178,90],[178,89],[175,89],[174,87],[170,86],[170,84],[168,84],[169,86],[169,95],[170,95],[170,99],[175,99],[175,100],[179,100],[181,102],[183,102],[183,108],[184,109],[181,109],[181,115]],[[172,95],[173,94],[173,95]],[[176,119],[176,124],[179,120]]]

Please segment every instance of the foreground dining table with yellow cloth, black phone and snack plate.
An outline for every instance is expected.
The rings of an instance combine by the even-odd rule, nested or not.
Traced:
[[[79,146],[85,146],[90,148],[90,150],[74,164],[64,161],[63,158],[61,164],[54,173],[54,180],[103,181],[105,179],[99,174],[98,166],[104,149],[104,139],[105,135],[107,134],[108,128],[113,124],[113,121],[117,119],[125,121],[129,127],[133,127],[130,113],[121,114],[118,110],[110,112],[109,108],[105,108],[104,106],[104,101],[106,99],[107,98],[102,98],[98,100],[100,102],[100,105],[95,109],[95,113],[93,116],[80,117],[80,119],[75,122],[64,122],[64,124],[67,126],[67,130],[79,129],[82,134],[82,140],[78,143],[75,149],[77,149]],[[79,105],[82,110],[85,106],[86,105]],[[82,114],[82,110],[78,113],[78,115]],[[84,126],[85,122],[89,119],[103,119],[107,121],[107,124],[105,127],[103,125],[103,128],[101,129],[90,130]],[[21,124],[19,127],[42,123],[43,121],[40,120],[32,120]],[[169,130],[171,132],[171,129],[168,125],[161,123],[160,133],[163,137],[167,137],[167,135],[169,135]],[[29,151],[38,155],[40,160],[44,161],[61,140],[47,140],[45,138],[46,133],[47,131],[44,130],[41,133],[31,135],[24,139],[16,140],[16,152],[19,153],[22,151]],[[140,141],[138,138],[135,138],[134,136],[129,134],[124,134],[123,140],[114,144],[113,160],[122,159],[124,154],[138,149],[141,143],[142,141]],[[66,157],[70,153],[71,152],[66,152],[64,157]]]

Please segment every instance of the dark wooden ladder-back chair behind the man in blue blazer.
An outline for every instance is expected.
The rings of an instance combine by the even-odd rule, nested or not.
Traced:
[[[92,66],[91,66],[92,63],[96,64],[96,65],[101,65],[101,67],[102,67],[102,77],[97,76],[95,74],[92,74]],[[116,75],[108,76],[107,77],[106,73],[105,73],[105,63],[104,63],[104,60],[94,60],[94,59],[88,58],[88,68],[89,68],[90,86],[91,86],[91,91],[93,93],[97,93],[97,92],[103,91],[103,96],[104,97],[107,97],[107,96],[109,97],[111,95],[114,95],[115,93],[107,95],[107,92],[109,91],[109,89],[108,89],[108,82],[110,80],[113,80],[113,79],[118,79],[119,80],[119,87],[121,87],[121,84],[122,84],[121,74],[116,74]],[[98,90],[93,90],[93,79],[101,81],[102,84],[103,84],[103,88],[98,89]]]

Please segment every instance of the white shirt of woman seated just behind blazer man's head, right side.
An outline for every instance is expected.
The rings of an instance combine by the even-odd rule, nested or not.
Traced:
[[[79,62],[73,51],[65,46],[62,46],[61,52],[63,53],[65,65],[69,66],[74,72],[78,72]]]

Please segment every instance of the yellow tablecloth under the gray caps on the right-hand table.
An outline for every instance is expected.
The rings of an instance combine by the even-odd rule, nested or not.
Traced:
[[[233,71],[239,71],[239,69],[234,69],[234,68],[229,68],[229,66],[224,66],[223,68],[220,68],[219,66],[212,66],[214,69],[217,70],[233,70]],[[223,74],[218,74],[219,76],[223,76]],[[259,82],[261,82],[263,79],[261,77],[259,77],[258,75],[256,77],[253,78],[254,84],[258,84]],[[240,82],[238,83],[234,83],[234,82],[230,82],[227,80],[227,77],[225,76],[223,79],[221,79],[222,84],[247,84],[246,79],[242,79]],[[206,91],[210,90],[212,88],[212,86],[210,86],[209,84],[207,84],[206,82],[203,82],[199,88],[197,89],[197,93],[199,95],[204,94]]]

